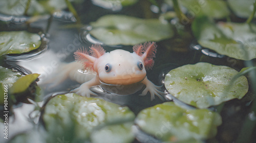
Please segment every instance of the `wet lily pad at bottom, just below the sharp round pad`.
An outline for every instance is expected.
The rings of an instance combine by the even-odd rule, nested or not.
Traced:
[[[207,109],[184,109],[173,102],[165,102],[142,110],[137,125],[146,133],[162,141],[183,141],[214,137],[221,116]]]

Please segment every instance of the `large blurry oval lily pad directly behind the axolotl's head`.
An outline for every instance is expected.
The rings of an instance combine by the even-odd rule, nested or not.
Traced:
[[[145,41],[160,41],[174,35],[172,26],[158,19],[105,15],[90,24],[90,34],[108,45],[135,45]]]

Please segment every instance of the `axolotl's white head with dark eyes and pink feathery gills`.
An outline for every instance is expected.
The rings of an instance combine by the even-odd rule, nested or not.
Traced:
[[[90,51],[81,49],[75,52],[75,58],[82,61],[84,68],[97,73],[100,81],[106,84],[127,85],[142,81],[146,69],[154,65],[156,43],[146,42],[133,47],[133,53],[114,50],[105,53],[99,45],[92,45]]]

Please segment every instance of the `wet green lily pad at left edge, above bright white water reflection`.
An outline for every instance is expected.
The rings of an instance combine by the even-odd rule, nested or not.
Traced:
[[[27,31],[0,32],[0,56],[26,53],[37,49],[40,44],[38,34]]]

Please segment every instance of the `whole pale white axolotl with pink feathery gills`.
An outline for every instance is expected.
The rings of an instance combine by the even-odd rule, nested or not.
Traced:
[[[133,53],[119,49],[106,53],[100,44],[95,44],[90,47],[90,51],[82,48],[77,50],[74,56],[78,62],[71,62],[61,70],[65,70],[62,73],[69,75],[72,80],[81,83],[80,87],[71,92],[84,97],[97,96],[90,88],[101,83],[129,85],[141,82],[146,87],[140,96],[145,96],[149,91],[151,100],[155,99],[155,95],[162,99],[161,86],[156,86],[146,77],[146,69],[151,69],[154,65],[156,47],[155,42],[146,42],[133,46]],[[92,71],[93,77],[79,73],[78,69],[81,68]],[[63,77],[61,74],[58,76]]]

